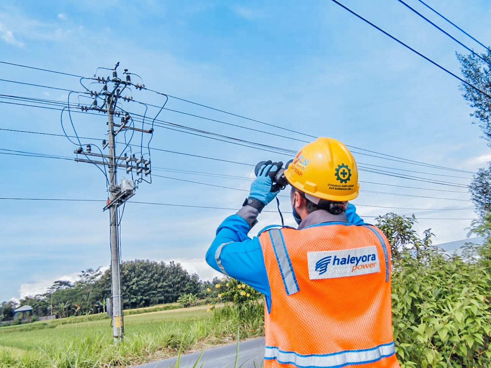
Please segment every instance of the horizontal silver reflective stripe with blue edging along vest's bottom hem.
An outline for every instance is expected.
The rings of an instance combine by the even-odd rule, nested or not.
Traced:
[[[299,368],[341,368],[349,365],[377,362],[393,354],[395,354],[394,342],[381,344],[370,349],[307,355],[298,354],[294,351],[283,351],[276,346],[266,346],[264,359],[276,359],[278,363],[293,364]]]

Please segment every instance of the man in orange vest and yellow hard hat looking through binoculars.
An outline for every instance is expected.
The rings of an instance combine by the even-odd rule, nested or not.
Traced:
[[[268,161],[237,214],[218,227],[207,262],[265,295],[265,368],[399,368],[391,322],[390,247],[349,201],[358,169],[346,146],[318,138],[281,168]],[[299,227],[247,233],[291,185]]]

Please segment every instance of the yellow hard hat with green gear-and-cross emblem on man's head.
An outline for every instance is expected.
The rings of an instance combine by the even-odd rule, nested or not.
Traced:
[[[305,145],[285,170],[285,178],[316,204],[319,198],[351,201],[360,187],[355,158],[343,143],[327,137]]]

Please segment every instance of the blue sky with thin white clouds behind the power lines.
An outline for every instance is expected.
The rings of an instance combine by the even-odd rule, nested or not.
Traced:
[[[442,23],[416,0],[408,1],[437,24],[481,51],[479,45]],[[470,34],[488,44],[487,1],[428,2]],[[418,51],[454,73],[459,45],[395,0],[343,1]],[[459,82],[410,53],[331,1],[299,3],[231,1],[2,1],[0,59],[11,63],[91,77],[98,67],[140,75],[148,88],[211,105],[286,129],[335,137],[346,144],[436,165],[476,171],[491,159],[490,150],[461,97]],[[101,73],[107,76],[108,71]],[[80,91],[75,77],[1,64],[0,79]],[[139,81],[134,77],[134,81]],[[67,101],[64,91],[0,81],[4,95]],[[95,89],[95,87],[94,87]],[[163,96],[133,91],[136,100],[162,105]],[[78,103],[76,94],[70,97]],[[8,101],[0,99],[0,101]],[[82,98],[81,103],[90,103]],[[125,103],[132,112],[141,105]],[[0,128],[62,134],[59,111],[0,104]],[[127,107],[128,106],[128,107]],[[169,99],[166,107],[249,128],[304,136],[268,127],[197,105]],[[155,116],[158,109],[149,108]],[[104,139],[104,116],[73,114],[80,136]],[[262,144],[300,149],[302,143],[226,126],[164,110],[159,119]],[[64,126],[71,130],[68,116]],[[156,128],[151,147],[246,163],[290,157]],[[139,135],[137,136],[139,139]],[[83,141],[82,143],[89,142]],[[90,141],[89,143],[99,143]],[[121,150],[122,145],[118,146]],[[0,148],[74,157],[65,137],[0,131]],[[467,184],[468,174],[436,170],[369,156],[358,162],[396,169],[429,179]],[[90,164],[70,160],[1,155],[2,197],[106,198],[104,176]],[[154,167],[220,173],[251,178],[251,167],[152,151]],[[250,181],[157,172],[191,181],[248,189]],[[119,179],[124,175],[119,174]],[[421,183],[360,172],[353,202],[361,216],[388,211],[423,218],[418,230],[432,228],[436,243],[465,238],[474,217],[467,193],[451,186]],[[411,189],[407,186],[427,188]],[[382,191],[454,200],[375,194]],[[246,192],[159,177],[139,186],[135,201],[239,208]],[[455,200],[457,199],[457,201]],[[287,198],[281,198],[286,222],[293,224]],[[376,208],[371,206],[383,206]],[[273,206],[271,206],[273,207]],[[427,210],[396,210],[394,207]],[[73,279],[82,269],[109,264],[107,212],[97,202],[0,200],[0,300],[41,292],[56,279]],[[447,209],[447,210],[443,210]],[[459,210],[456,210],[459,209]],[[272,208],[271,210],[274,210]],[[122,219],[122,257],[177,260],[203,278],[214,275],[203,261],[219,222],[230,210],[128,204]],[[279,222],[263,213],[260,224]],[[368,221],[373,218],[367,217]]]

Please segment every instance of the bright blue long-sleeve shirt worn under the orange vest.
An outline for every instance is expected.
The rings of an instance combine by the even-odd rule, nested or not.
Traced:
[[[346,209],[346,218],[350,224],[364,224],[352,204],[349,204]],[[249,223],[238,214],[225,218],[218,226],[217,235],[206,252],[206,262],[218,272],[262,292],[269,310],[271,290],[263,251],[257,236],[253,238],[247,236],[250,228]]]

